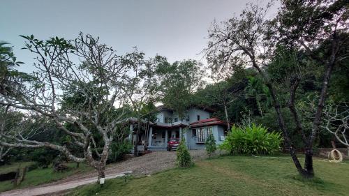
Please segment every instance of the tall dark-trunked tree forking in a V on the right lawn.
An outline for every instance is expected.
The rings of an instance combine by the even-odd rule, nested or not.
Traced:
[[[209,43],[205,50],[211,69],[220,72],[237,65],[252,66],[258,71],[272,96],[273,105],[278,116],[279,126],[283,132],[286,148],[289,150],[299,174],[311,178],[313,172],[313,142],[318,133],[322,108],[325,103],[329,78],[336,62],[344,56],[338,56],[343,42],[339,34],[348,32],[346,5],[343,1],[281,1],[282,6],[276,20],[268,20],[266,8],[249,4],[239,17],[232,17],[226,22],[214,22],[209,30]],[[276,27],[276,28],[275,28]],[[310,59],[325,65],[324,80],[318,100],[318,107],[309,135],[304,133],[299,114],[295,109],[295,93],[300,77],[295,74],[290,85],[288,107],[297,124],[297,131],[302,135],[306,146],[304,168],[299,163],[295,148],[290,140],[289,131],[281,114],[278,93],[265,67],[272,59],[276,43],[285,43],[290,47],[306,50]],[[322,57],[315,52],[320,43],[328,42],[329,56]]]

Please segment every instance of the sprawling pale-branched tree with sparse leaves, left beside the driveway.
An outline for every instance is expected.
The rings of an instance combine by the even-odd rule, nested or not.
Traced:
[[[9,82],[2,82],[0,105],[35,112],[53,121],[83,156],[73,154],[67,146],[29,140],[20,134],[2,133],[1,146],[55,149],[77,163],[86,161],[98,171],[99,181],[105,177],[112,140],[128,134],[118,127],[124,112],[115,107],[124,103],[121,87],[130,68],[111,47],[90,35],[45,41],[22,37],[27,40],[24,48],[36,56],[34,72],[27,78],[8,77]],[[66,123],[77,128],[70,130]],[[101,148],[96,146],[96,135],[102,138]]]

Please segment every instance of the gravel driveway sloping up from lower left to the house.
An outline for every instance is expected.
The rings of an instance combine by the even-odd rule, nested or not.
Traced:
[[[190,151],[193,160],[206,158],[205,151]],[[133,175],[147,175],[159,172],[175,166],[176,152],[175,151],[154,151],[144,156],[124,160],[120,163],[114,163],[107,166],[105,171],[106,176],[117,176],[122,172],[133,171]],[[40,186],[24,188],[20,190],[9,190],[0,193],[2,195],[61,195],[60,193],[72,188],[73,184],[84,185],[96,181],[97,172],[91,171],[87,174],[77,174],[68,176],[61,181],[43,184]],[[84,183],[86,182],[86,183]],[[58,192],[57,194],[53,194]]]

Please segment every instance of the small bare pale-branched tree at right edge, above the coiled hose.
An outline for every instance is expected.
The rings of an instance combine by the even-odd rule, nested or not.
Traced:
[[[348,103],[329,103],[322,112],[325,123],[321,127],[332,133],[341,144],[347,146],[349,156],[349,105]]]

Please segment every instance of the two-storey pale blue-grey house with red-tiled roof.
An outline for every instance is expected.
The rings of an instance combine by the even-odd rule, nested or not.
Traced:
[[[211,118],[212,112],[214,111],[204,107],[191,107],[180,118],[174,110],[165,106],[158,107],[156,121],[142,123],[142,131],[138,137],[139,149],[166,149],[171,138],[181,138],[181,135],[186,139],[188,149],[205,149],[209,134],[213,134],[216,143],[221,144],[225,139],[227,125],[224,121]]]

